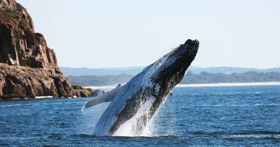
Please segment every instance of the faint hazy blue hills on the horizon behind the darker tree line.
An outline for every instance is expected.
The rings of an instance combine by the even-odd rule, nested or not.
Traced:
[[[65,76],[118,76],[122,74],[127,75],[136,75],[144,67],[134,66],[134,67],[124,67],[124,68],[100,68],[100,69],[90,69],[90,68],[69,68],[69,67],[60,67]],[[201,72],[207,73],[244,73],[248,71],[255,71],[258,73],[267,73],[267,72],[280,72],[280,68],[273,69],[253,69],[253,68],[241,68],[241,67],[197,67],[190,66],[188,72],[192,72],[195,74],[200,74]]]

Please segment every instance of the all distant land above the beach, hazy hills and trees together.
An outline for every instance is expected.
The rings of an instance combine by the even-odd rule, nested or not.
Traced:
[[[61,67],[60,69],[75,85],[105,86],[127,83],[144,67],[103,69]],[[280,82],[280,68],[253,69],[226,66],[202,68],[190,66],[181,84],[260,82]]]

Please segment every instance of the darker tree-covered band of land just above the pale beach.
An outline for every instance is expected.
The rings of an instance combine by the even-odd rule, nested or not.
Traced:
[[[130,74],[118,76],[69,76],[71,83],[81,86],[102,86],[117,85],[127,83],[131,78]],[[200,74],[193,72],[186,73],[181,84],[202,84],[202,83],[253,83],[253,82],[280,82],[279,72],[258,73],[248,71],[245,73],[207,73],[202,71]]]

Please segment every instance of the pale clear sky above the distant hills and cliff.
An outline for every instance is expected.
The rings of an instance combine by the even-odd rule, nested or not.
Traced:
[[[193,66],[280,67],[279,0],[17,0],[59,66],[147,66],[200,41]]]

